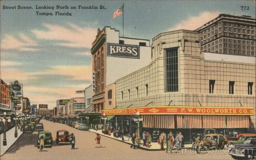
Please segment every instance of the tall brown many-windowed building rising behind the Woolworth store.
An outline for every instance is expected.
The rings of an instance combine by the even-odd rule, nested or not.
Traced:
[[[201,51],[243,56],[255,56],[256,19],[250,16],[219,14],[196,29]]]

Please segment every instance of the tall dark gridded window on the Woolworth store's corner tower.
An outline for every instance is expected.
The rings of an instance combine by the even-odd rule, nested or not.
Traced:
[[[166,92],[178,91],[177,48],[166,49]]]

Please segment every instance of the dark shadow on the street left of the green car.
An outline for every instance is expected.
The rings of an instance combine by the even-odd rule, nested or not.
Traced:
[[[12,145],[12,147],[9,148],[6,154],[15,153],[17,150],[20,149],[20,147],[27,145],[34,145],[35,147],[37,147],[37,132],[23,133],[20,138]]]

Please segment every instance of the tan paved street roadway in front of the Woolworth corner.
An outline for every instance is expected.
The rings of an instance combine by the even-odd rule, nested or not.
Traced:
[[[53,138],[52,148],[44,148],[39,152],[37,148],[38,132],[24,133],[9,149],[0,157],[1,160],[233,160],[224,150],[224,154],[166,154],[165,151],[146,151],[142,149],[131,149],[126,143],[101,136],[102,148],[95,148],[95,133],[73,129],[65,124],[53,123],[41,120],[44,130],[50,131]],[[76,136],[75,149],[71,145],[56,146],[56,132],[66,129]],[[184,153],[183,152],[183,153]],[[193,152],[194,153],[194,152]]]

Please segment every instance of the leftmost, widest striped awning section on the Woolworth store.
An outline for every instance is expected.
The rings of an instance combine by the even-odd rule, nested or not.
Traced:
[[[145,128],[175,128],[174,115],[143,115]]]

